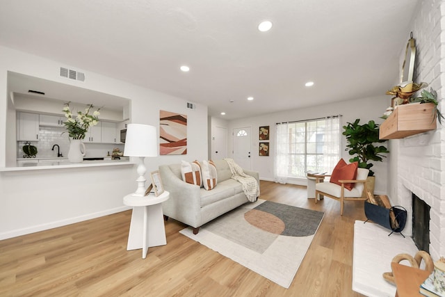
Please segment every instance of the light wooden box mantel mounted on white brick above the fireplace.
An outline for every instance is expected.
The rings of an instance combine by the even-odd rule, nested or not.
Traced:
[[[380,139],[399,139],[437,127],[432,103],[398,105],[380,125]]]

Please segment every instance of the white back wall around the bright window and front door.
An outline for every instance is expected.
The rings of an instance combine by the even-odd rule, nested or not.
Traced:
[[[282,111],[279,113],[270,113],[253,118],[243,118],[229,122],[229,153],[232,153],[232,130],[237,127],[252,127],[252,170],[259,172],[260,179],[273,181],[273,156],[275,154],[275,123],[288,122],[296,120],[308,120],[312,118],[324,118],[327,115],[343,115],[341,125],[346,122],[354,122],[356,118],[364,124],[369,120],[374,120],[380,124],[383,122],[379,117],[387,109],[390,97],[384,95],[386,90],[382,90],[382,96],[355,99],[350,101],[337,102],[333,104],[324,104],[312,106],[303,109],[294,109],[291,111]],[[261,126],[270,126],[270,153],[269,156],[259,156],[258,153],[258,130]],[[387,145],[387,143],[383,143]],[[346,147],[346,138],[343,136],[342,147]],[[350,156],[348,152],[343,151],[343,159],[348,161]],[[375,172],[375,193],[387,193],[387,161],[373,162],[373,171]],[[306,179],[295,179],[295,184],[306,184]]]

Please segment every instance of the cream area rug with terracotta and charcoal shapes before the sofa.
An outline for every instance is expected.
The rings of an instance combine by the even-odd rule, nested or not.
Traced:
[[[289,289],[323,215],[259,199],[180,233]]]

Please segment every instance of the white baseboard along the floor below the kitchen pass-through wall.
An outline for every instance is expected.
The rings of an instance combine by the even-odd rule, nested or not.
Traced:
[[[76,216],[74,218],[67,218],[64,220],[57,220],[54,222],[44,223],[41,225],[35,225],[32,227],[26,227],[26,228],[22,228],[22,229],[18,229],[18,230],[3,232],[3,233],[0,233],[0,240],[10,239],[10,238],[17,237],[17,236],[22,236],[22,235],[26,235],[26,234],[31,234],[31,233],[35,233],[35,232],[53,229],[56,227],[62,227],[62,226],[66,226],[66,225],[70,225],[70,224],[74,224],[74,223],[79,223],[79,222],[83,222],[84,220],[90,220],[92,218],[108,216],[108,214],[116,214],[118,212],[126,211],[128,209],[131,209],[131,207],[127,207],[127,206],[116,207],[114,209],[106,209],[104,211],[98,211],[98,212],[95,212],[92,214],[85,214],[83,216]]]

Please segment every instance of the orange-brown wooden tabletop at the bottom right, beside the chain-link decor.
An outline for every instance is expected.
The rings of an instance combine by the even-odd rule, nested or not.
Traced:
[[[420,285],[430,276],[430,271],[395,262],[391,263],[391,268],[396,280],[396,297],[423,297],[420,294]]]

